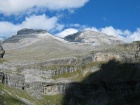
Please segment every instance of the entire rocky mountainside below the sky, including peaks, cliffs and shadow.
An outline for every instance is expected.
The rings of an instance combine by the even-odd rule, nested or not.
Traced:
[[[140,104],[139,41],[22,29],[2,46],[0,105]]]

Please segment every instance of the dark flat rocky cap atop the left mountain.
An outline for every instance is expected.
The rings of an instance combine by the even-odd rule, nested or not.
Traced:
[[[17,35],[21,35],[21,34],[33,34],[33,33],[47,33],[46,30],[34,30],[34,29],[28,29],[28,28],[24,28],[21,29],[17,32]]]

